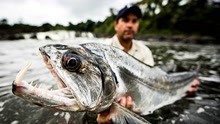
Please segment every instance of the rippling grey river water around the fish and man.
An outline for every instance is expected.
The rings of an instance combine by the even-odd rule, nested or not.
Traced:
[[[91,41],[102,42],[104,39],[76,38],[74,41],[65,41],[65,44]],[[38,55],[38,48],[48,43],[57,42],[37,40],[0,42],[0,123],[83,123],[82,120],[95,123],[95,118],[92,116],[83,119],[83,113],[76,115],[41,108],[12,94],[12,81],[28,61],[32,62],[32,66],[25,80],[45,82],[41,87],[46,88],[55,84]],[[195,95],[184,97],[145,118],[151,123],[220,123],[220,46],[152,42],[149,47],[157,65],[168,67],[176,64],[176,67],[170,71],[189,71],[199,68],[202,80]]]

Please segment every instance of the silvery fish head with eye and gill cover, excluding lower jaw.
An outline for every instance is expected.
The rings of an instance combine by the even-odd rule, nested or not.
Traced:
[[[107,70],[103,67],[107,65],[100,62],[100,57],[97,59],[96,55],[80,45],[46,45],[39,50],[47,67],[59,79],[58,86],[68,87],[80,106],[93,109],[100,104],[111,104],[110,101],[102,101],[103,97],[113,101],[116,88],[114,77],[111,72],[106,74]]]

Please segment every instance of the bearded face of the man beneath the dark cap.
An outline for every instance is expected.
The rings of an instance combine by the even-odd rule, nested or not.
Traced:
[[[132,40],[139,28],[139,21],[134,14],[128,14],[115,23],[115,31],[122,40]]]

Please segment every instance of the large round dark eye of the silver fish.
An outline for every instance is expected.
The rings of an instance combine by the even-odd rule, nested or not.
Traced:
[[[70,72],[77,72],[81,68],[82,62],[76,54],[64,53],[61,59],[61,65]]]

